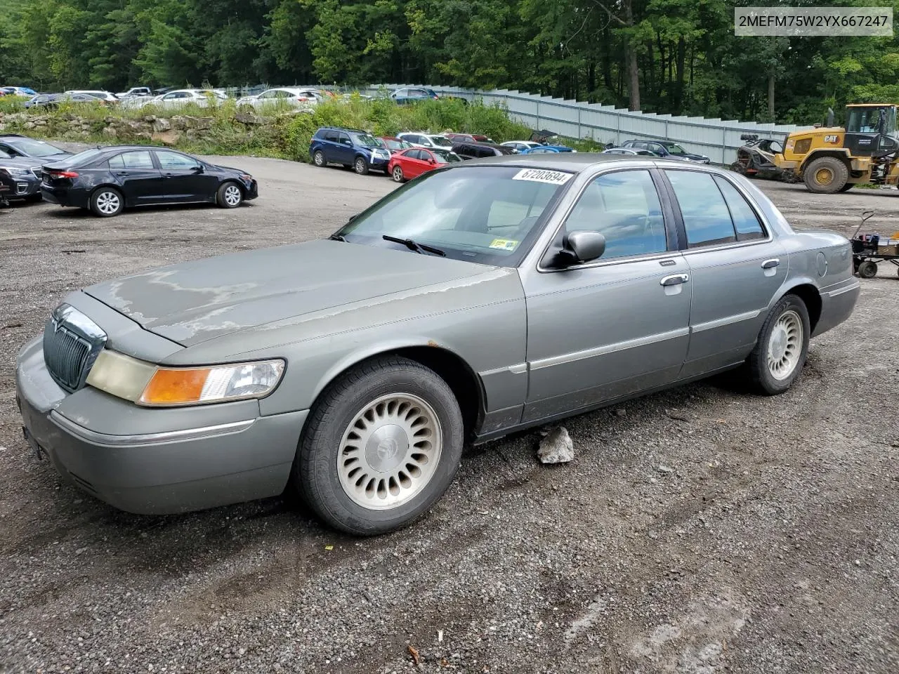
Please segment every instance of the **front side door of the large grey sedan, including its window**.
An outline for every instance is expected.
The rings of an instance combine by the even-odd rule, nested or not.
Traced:
[[[602,173],[524,275],[530,380],[523,421],[574,412],[674,381],[690,340],[690,268],[649,170]],[[661,184],[661,183],[660,183]],[[606,237],[593,262],[560,267],[563,237]]]

